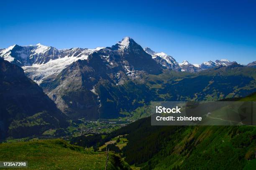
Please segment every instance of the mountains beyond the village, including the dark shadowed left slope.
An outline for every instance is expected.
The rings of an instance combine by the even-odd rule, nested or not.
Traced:
[[[130,37],[95,49],[13,45],[0,49],[0,57],[2,139],[53,129],[67,135],[77,121],[131,122],[148,116],[151,101],[220,100],[256,91],[255,62],[178,63]]]

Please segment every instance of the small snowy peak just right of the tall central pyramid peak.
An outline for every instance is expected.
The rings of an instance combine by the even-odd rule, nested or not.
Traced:
[[[154,52],[149,47],[145,47],[144,51],[146,51],[149,55],[152,56],[152,58],[161,64],[164,68],[167,68],[169,70],[176,70],[181,71],[181,68],[179,67],[179,63],[176,62],[176,60],[170,56],[167,55],[164,52]]]

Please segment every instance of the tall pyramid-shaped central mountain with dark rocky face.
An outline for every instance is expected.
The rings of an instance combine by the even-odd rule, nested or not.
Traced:
[[[133,95],[122,94],[128,91],[117,86],[128,80],[139,81],[144,73],[160,74],[161,65],[134,40],[125,37],[112,47],[89,54],[87,60],[73,62],[58,75],[42,81],[40,86],[70,117],[116,117],[118,108],[128,104],[127,100]],[[120,97],[124,103],[119,103]]]

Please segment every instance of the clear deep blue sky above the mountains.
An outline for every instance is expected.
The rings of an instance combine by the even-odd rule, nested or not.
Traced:
[[[224,1],[224,2],[223,2]],[[256,1],[1,2],[0,47],[106,47],[123,37],[178,62],[256,60]]]

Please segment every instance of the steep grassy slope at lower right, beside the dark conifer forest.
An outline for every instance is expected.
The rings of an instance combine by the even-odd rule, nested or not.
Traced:
[[[256,168],[254,127],[200,126],[174,135],[175,140],[164,143],[156,155],[141,164],[143,169]]]

